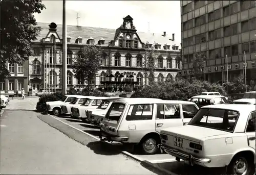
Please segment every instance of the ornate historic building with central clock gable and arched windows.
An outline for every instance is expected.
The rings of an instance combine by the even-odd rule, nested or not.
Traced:
[[[54,22],[50,25],[38,22],[38,26],[42,31],[37,40],[33,41],[34,55],[24,63],[23,69],[26,71],[24,77],[19,79],[14,74],[6,82],[2,82],[1,91],[4,93],[13,93],[10,90],[13,89],[10,87],[12,79],[14,79],[14,89],[16,86],[22,86],[26,92],[30,90],[32,94],[44,88],[52,91],[61,90],[62,25],[56,25]],[[134,88],[148,84],[140,66],[145,51],[152,47],[159,53],[154,74],[155,81],[175,79],[178,70],[181,70],[180,49],[179,44],[175,43],[175,35],[168,37],[166,32],[163,34],[137,32],[133,18],[128,15],[123,18],[123,23],[116,30],[67,26],[68,88],[85,85],[81,80],[75,79],[72,70],[72,59],[79,54],[85,44],[97,44],[103,48],[101,66],[92,83],[105,90],[110,87],[107,87],[107,84],[112,85],[111,91],[121,90],[120,87],[127,86],[129,82],[132,82]],[[19,70],[19,65],[15,66],[15,70]],[[15,85],[15,81],[18,83],[20,80],[23,80],[23,85]]]

